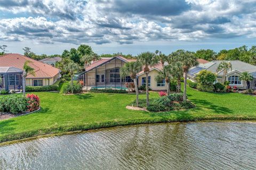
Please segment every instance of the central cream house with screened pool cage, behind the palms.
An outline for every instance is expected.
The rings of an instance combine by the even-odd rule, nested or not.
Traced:
[[[125,84],[133,82],[133,80],[131,80],[130,76],[121,78],[119,71],[120,68],[125,65],[125,63],[131,61],[136,60],[127,59],[122,56],[103,57],[87,66],[85,72],[77,74],[77,80],[83,81],[87,90],[91,88],[125,89]],[[157,82],[155,80],[159,71],[163,69],[163,65],[158,63],[153,67],[149,67],[149,69],[149,88],[152,90],[166,90],[167,85],[165,84],[164,80],[163,82]],[[137,81],[139,87],[146,84],[146,75],[143,71],[140,71],[137,74]]]

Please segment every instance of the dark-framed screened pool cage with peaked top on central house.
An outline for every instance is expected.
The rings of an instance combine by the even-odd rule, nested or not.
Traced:
[[[127,89],[132,86],[133,80],[130,76],[121,78],[120,68],[126,63],[117,57],[102,63],[92,63],[97,65],[86,69],[85,72],[77,75],[77,81],[80,81],[85,90],[93,88],[98,89]]]

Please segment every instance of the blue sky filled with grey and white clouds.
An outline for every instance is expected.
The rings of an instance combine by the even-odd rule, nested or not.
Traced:
[[[0,0],[0,45],[61,54],[215,51],[256,45],[256,0]]]

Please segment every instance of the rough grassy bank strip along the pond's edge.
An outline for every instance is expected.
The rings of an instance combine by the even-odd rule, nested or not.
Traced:
[[[194,119],[191,118],[190,120],[133,120],[134,122],[127,122],[127,121],[121,121],[121,122],[102,122],[98,124],[87,124],[87,125],[77,125],[77,126],[68,126],[68,127],[56,127],[54,129],[45,129],[45,130],[36,130],[36,131],[28,131],[23,132],[22,134],[14,134],[14,135],[7,135],[0,138],[0,147],[1,146],[7,146],[12,145],[13,143],[19,143],[19,142],[26,142],[30,140],[36,140],[40,138],[49,138],[49,137],[55,137],[55,136],[61,136],[61,135],[69,135],[69,134],[76,134],[76,133],[86,133],[91,131],[97,131],[102,129],[108,129],[108,128],[116,128],[116,127],[122,127],[122,126],[132,126],[132,125],[147,125],[147,124],[156,124],[156,123],[189,123],[189,122],[253,122],[256,121],[256,117],[211,117],[211,118],[199,118],[195,117]],[[104,126],[106,125],[106,126]],[[79,130],[79,128],[81,128]],[[62,129],[62,130],[61,130]],[[72,131],[71,129],[74,129]],[[69,131],[70,130],[70,131]],[[45,134],[41,134],[39,132],[46,131]],[[38,132],[37,134],[33,135],[34,133]],[[47,133],[49,132],[49,133]],[[55,133],[56,132],[56,133]],[[44,132],[43,132],[44,133]],[[30,136],[31,135],[31,136]],[[22,136],[26,136],[25,138],[22,138]]]

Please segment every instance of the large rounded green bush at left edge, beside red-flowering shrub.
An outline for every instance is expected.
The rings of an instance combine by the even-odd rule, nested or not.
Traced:
[[[22,95],[8,95],[0,98],[0,112],[23,113],[28,109],[29,99]]]

